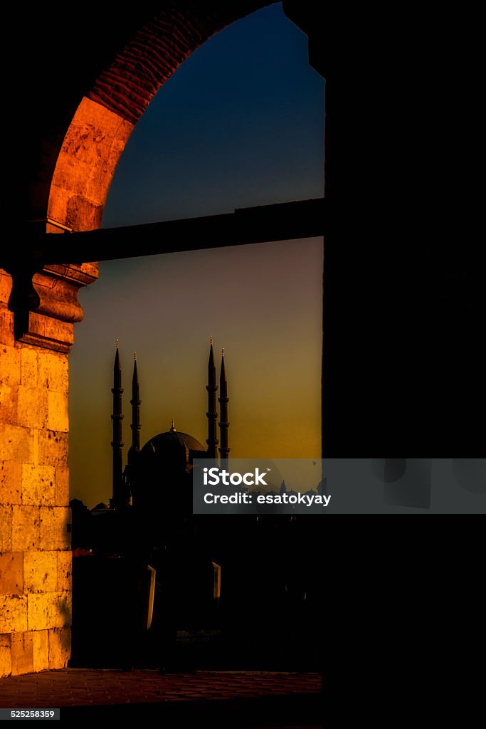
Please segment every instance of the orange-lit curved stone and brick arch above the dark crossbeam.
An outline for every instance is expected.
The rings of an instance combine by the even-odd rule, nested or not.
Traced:
[[[270,4],[170,4],[138,28],[98,74],[68,126],[50,181],[48,232],[62,230],[59,225],[100,227],[119,157],[160,87],[213,34]]]

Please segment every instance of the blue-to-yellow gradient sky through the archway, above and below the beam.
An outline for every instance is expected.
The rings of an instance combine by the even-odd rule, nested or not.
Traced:
[[[162,87],[123,153],[103,227],[323,194],[324,81],[280,4],[198,49]],[[136,247],[136,241],[134,241]],[[141,440],[177,429],[205,443],[208,343],[226,348],[235,457],[320,456],[322,239],[101,264],[83,289],[70,355],[71,497],[111,495],[115,340],[130,445],[133,351]]]

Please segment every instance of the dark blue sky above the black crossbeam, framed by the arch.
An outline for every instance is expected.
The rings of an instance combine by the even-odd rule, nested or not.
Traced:
[[[324,80],[307,36],[271,5],[168,79],[119,161],[103,227],[323,194]]]

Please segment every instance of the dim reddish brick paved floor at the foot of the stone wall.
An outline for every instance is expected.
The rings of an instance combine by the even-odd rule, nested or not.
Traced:
[[[2,708],[60,708],[61,719],[115,715],[165,726],[317,728],[319,674],[258,671],[111,671],[67,668],[0,679]],[[169,723],[167,723],[169,722]],[[173,722],[171,724],[170,722]]]

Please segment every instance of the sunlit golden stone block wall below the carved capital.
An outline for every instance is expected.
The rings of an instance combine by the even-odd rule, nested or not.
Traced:
[[[14,340],[11,286],[0,270],[0,676],[62,668],[71,642],[68,356]]]

